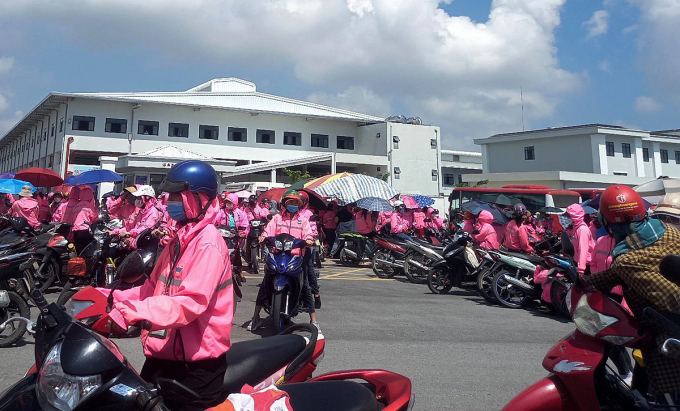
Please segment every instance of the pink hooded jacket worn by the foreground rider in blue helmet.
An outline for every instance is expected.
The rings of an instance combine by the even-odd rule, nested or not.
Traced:
[[[203,193],[199,196],[208,201]],[[182,201],[187,216],[196,218],[200,204],[194,195],[184,191]],[[153,335],[142,330],[147,357],[194,362],[217,358],[231,347],[231,264],[225,257],[227,246],[211,224],[218,209],[214,200],[201,220],[181,225],[142,286],[114,291],[112,320],[123,328],[151,323]]]

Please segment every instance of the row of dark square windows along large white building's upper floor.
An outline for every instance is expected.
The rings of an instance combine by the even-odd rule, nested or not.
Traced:
[[[157,136],[158,121],[138,120],[137,134]],[[73,130],[94,131],[94,117],[73,116]],[[107,118],[104,131],[107,133],[127,133],[127,119]],[[218,140],[220,136],[219,126],[199,125],[198,138],[204,140]],[[189,124],[168,123],[168,137],[189,137]],[[248,129],[229,127],[227,130],[228,141],[248,141]],[[276,132],[274,130],[257,130],[255,141],[261,144],[276,144]],[[312,134],[310,144],[312,147],[328,148],[328,134]],[[285,131],[283,133],[283,145],[302,146],[302,133]],[[354,150],[354,137],[337,136],[337,148],[341,150]]]

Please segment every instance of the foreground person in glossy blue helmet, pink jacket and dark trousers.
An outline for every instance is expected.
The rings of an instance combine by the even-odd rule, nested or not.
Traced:
[[[227,246],[212,224],[218,212],[215,170],[198,160],[172,166],[159,190],[170,193],[168,213],[177,236],[163,250],[141,286],[114,291],[109,327],[117,332],[142,323],[146,361],[140,376],[170,378],[194,390],[197,403],[170,409],[204,410],[217,405],[231,347],[234,291]]]

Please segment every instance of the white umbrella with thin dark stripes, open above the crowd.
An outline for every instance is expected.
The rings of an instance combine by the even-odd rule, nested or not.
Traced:
[[[386,182],[363,174],[350,174],[336,178],[313,190],[322,197],[334,198],[345,204],[354,203],[366,197],[388,200],[397,195],[397,192]]]

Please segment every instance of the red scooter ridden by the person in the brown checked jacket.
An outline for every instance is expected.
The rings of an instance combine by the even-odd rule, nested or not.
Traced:
[[[562,235],[562,250],[573,256],[569,237]],[[552,374],[513,398],[504,411],[652,409],[607,364],[613,346],[639,347],[649,337],[638,333],[639,322],[620,304],[592,289],[573,267],[567,295],[576,330],[553,346],[543,359]]]

